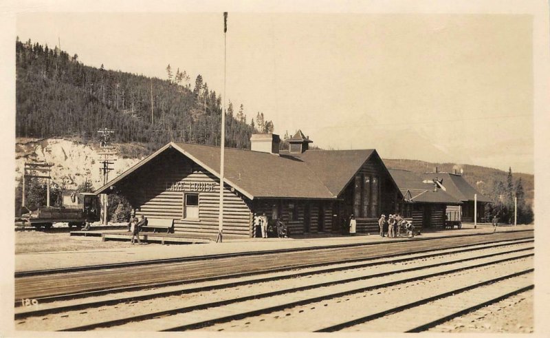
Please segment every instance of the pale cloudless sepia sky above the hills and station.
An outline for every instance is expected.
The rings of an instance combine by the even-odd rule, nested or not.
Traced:
[[[21,12],[22,41],[223,94],[221,12]],[[230,12],[226,95],[324,149],[533,173],[528,14]],[[235,109],[236,110],[236,109]]]

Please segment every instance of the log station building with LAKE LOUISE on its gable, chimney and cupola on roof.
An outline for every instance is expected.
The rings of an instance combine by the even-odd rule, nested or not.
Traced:
[[[353,213],[358,233],[377,233],[381,213],[403,208],[406,191],[374,149],[309,150],[302,131],[287,140],[288,151],[279,151],[279,142],[275,134],[255,134],[251,150],[225,149],[226,238],[253,237],[254,213],[283,221],[291,235],[340,233]],[[215,238],[219,172],[219,147],[170,142],[96,193],[122,194],[137,215],[173,220],[174,233]]]

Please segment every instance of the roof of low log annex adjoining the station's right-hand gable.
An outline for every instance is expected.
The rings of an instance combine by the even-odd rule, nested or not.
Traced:
[[[391,177],[399,187],[403,196],[408,196],[408,202],[461,204],[442,189],[434,190],[433,184],[423,183],[416,173],[401,169],[388,169]]]

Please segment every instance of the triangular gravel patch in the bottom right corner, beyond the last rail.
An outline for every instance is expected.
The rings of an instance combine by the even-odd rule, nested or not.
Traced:
[[[428,332],[533,333],[533,291],[446,321]]]

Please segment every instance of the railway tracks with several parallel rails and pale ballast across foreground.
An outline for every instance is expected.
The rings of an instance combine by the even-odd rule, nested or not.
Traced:
[[[422,306],[445,302],[444,299],[449,297],[478,292],[480,288],[498,286],[499,292],[506,291],[491,299],[485,297],[485,302],[521,292],[532,287],[532,257],[533,241],[530,239],[473,244],[430,253],[369,258],[363,262],[340,262],[329,266],[296,268],[293,271],[263,272],[146,291],[124,291],[119,295],[88,297],[84,301],[56,301],[41,304],[42,308],[16,308],[16,323],[22,329],[29,329],[36,323],[40,326],[47,323],[47,330],[108,328],[157,331],[203,328],[277,331],[281,330],[276,327],[279,324],[283,325],[281,328],[284,330],[363,330],[362,326],[366,323],[376,322],[389,313],[407,313]],[[437,287],[432,287],[434,285]],[[412,291],[415,288],[423,292]],[[393,293],[395,289],[411,292],[404,297],[397,297],[395,302],[386,302],[384,299],[387,298],[380,296]],[[494,292],[490,294],[494,295]],[[334,313],[338,313],[335,307],[347,303],[349,299],[355,299],[353,302],[364,306],[364,297],[369,297],[367,304],[379,298],[380,302],[374,303],[386,307],[360,308],[350,320],[333,318]],[[480,304],[468,305],[474,308]],[[307,320],[307,316],[303,315],[307,313],[313,318],[324,318],[318,317],[317,312],[329,308],[329,314],[332,314],[330,320]],[[283,309],[284,314],[274,315]],[[346,307],[342,309],[344,313],[345,310]],[[462,306],[443,317],[450,318],[465,310],[467,308]],[[64,320],[69,317],[73,325]],[[78,325],[74,325],[75,318],[78,318]],[[109,320],[104,320],[106,318]],[[441,321],[441,318],[431,319],[432,324]],[[272,321],[275,324],[267,325]],[[412,322],[418,324],[417,321]],[[408,330],[429,327],[426,323],[423,325]]]

